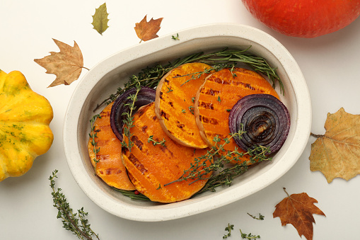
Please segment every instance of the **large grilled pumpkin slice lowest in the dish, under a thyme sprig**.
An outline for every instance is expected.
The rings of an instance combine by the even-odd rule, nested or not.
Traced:
[[[207,180],[189,185],[194,181],[189,179],[164,185],[180,178],[184,170],[194,163],[194,158],[207,154],[207,149],[185,147],[170,139],[161,129],[154,107],[154,103],[149,103],[134,114],[134,127],[130,129],[134,146],[131,152],[123,147],[122,160],[135,188],[150,200],[164,203],[186,200],[197,193]],[[148,142],[150,136],[157,142],[165,139],[166,147]],[[124,141],[128,143],[129,139],[124,137]]]

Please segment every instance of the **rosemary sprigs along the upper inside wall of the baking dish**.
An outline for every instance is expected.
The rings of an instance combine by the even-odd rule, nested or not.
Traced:
[[[275,83],[278,82],[280,86],[280,92],[284,94],[284,85],[282,84],[281,79],[276,72],[277,68],[271,67],[263,57],[248,54],[247,52],[250,50],[250,47],[246,48],[245,50],[229,50],[226,47],[223,50],[210,52],[207,54],[204,52],[197,52],[193,55],[176,59],[174,62],[168,62],[168,64],[156,64],[154,67],[146,67],[141,69],[141,72],[139,72],[137,75],[130,76],[129,81],[124,84],[124,87],[117,88],[116,93],[111,94],[103,102],[99,103],[95,110],[97,110],[103,104],[111,103],[117,98],[117,96],[120,96],[122,93],[124,93],[124,91],[137,86],[138,83],[140,83],[141,86],[155,88],[158,86],[158,82],[161,80],[161,78],[170,70],[190,62],[202,62],[209,64],[214,68],[219,67],[219,69],[221,69],[221,66],[235,66],[239,62],[248,64],[248,66],[250,66],[254,71],[260,72],[267,76],[273,87],[275,87]]]

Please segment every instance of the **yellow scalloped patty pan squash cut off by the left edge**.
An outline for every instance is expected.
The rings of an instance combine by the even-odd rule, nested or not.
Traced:
[[[52,145],[52,106],[21,72],[0,70],[0,181],[22,176]]]

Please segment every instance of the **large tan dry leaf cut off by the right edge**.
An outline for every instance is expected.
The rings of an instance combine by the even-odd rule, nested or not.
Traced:
[[[310,170],[321,171],[327,183],[334,178],[349,180],[360,173],[360,115],[327,113],[325,135],[311,144]]]

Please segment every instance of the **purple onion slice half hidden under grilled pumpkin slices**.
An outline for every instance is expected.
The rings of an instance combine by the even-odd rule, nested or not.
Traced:
[[[129,105],[127,103],[132,103],[132,100],[129,99],[130,95],[137,93],[137,88],[129,89],[122,93],[112,105],[110,113],[110,126],[112,132],[114,132],[117,139],[122,141],[122,126],[123,120],[126,118],[126,115],[123,113],[129,113]],[[137,101],[135,101],[135,111],[138,110],[141,106],[147,105],[155,101],[156,90],[153,88],[148,88],[146,86],[141,86],[139,93],[137,93]],[[133,112],[133,114],[135,113]]]

